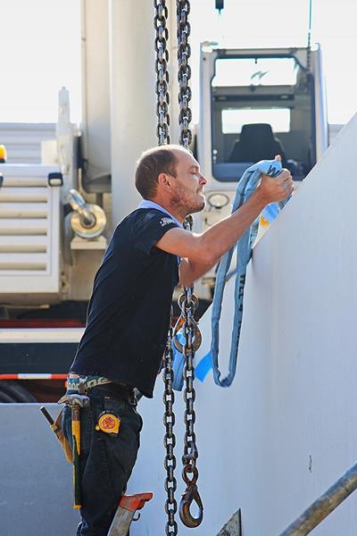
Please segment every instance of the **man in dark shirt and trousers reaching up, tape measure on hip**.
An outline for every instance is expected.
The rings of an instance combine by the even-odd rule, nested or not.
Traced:
[[[78,536],[107,534],[137,458],[141,417],[134,390],[153,397],[170,323],[172,291],[189,286],[239,239],[265,205],[288,197],[284,170],[263,176],[252,197],[201,234],[182,228],[203,210],[207,180],[179,146],[154,147],[137,163],[138,209],[114,230],[96,273],[87,326],[71,365],[69,389],[85,381],[81,415],[82,522]],[[71,436],[71,410],[63,412]]]

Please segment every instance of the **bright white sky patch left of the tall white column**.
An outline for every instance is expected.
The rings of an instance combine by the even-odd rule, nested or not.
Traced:
[[[0,122],[56,121],[62,86],[79,121],[79,0],[0,0],[0,62]]]

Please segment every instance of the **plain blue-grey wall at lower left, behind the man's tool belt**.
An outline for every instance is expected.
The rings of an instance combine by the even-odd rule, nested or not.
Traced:
[[[72,536],[71,465],[40,413],[41,404],[0,404],[1,536]],[[56,418],[57,404],[46,404]]]

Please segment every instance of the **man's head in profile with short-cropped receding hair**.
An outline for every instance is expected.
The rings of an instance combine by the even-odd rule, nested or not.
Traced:
[[[177,145],[154,147],[141,155],[135,173],[142,197],[185,217],[203,210],[207,180],[190,151]]]

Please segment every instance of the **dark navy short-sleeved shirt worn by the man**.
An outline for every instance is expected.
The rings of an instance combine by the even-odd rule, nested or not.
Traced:
[[[114,230],[95,275],[72,372],[100,374],[153,397],[179,282],[177,256],[154,245],[174,227],[168,214],[140,208]]]

